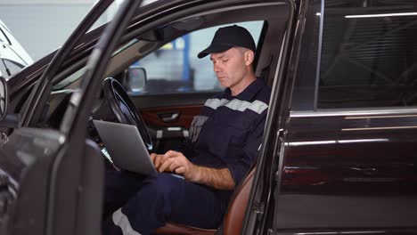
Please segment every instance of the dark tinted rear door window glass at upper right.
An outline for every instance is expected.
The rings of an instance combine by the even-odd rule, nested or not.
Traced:
[[[327,0],[318,109],[417,105],[414,0]]]

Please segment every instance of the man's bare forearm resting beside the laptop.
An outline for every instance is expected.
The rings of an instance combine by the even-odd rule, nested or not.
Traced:
[[[196,166],[196,177],[194,182],[207,184],[218,190],[233,190],[236,186],[229,169],[214,169],[204,166]]]

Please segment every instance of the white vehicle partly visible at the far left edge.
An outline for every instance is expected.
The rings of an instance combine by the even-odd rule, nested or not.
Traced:
[[[0,75],[8,79],[33,63],[29,53],[12,36],[12,32],[0,20]]]

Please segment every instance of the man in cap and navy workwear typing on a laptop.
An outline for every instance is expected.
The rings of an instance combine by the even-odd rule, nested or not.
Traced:
[[[210,54],[225,92],[206,101],[182,151],[151,154],[159,174],[106,175],[105,209],[120,208],[103,224],[104,234],[149,234],[166,221],[218,227],[233,189],[256,161],[265,126],[270,90],[255,76],[255,50],[245,28],[217,30],[198,57]]]

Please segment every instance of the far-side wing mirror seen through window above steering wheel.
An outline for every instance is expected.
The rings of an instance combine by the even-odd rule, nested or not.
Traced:
[[[142,92],[146,82],[147,77],[145,69],[137,66],[130,66],[128,69],[125,69],[123,86],[127,93],[137,94]]]

